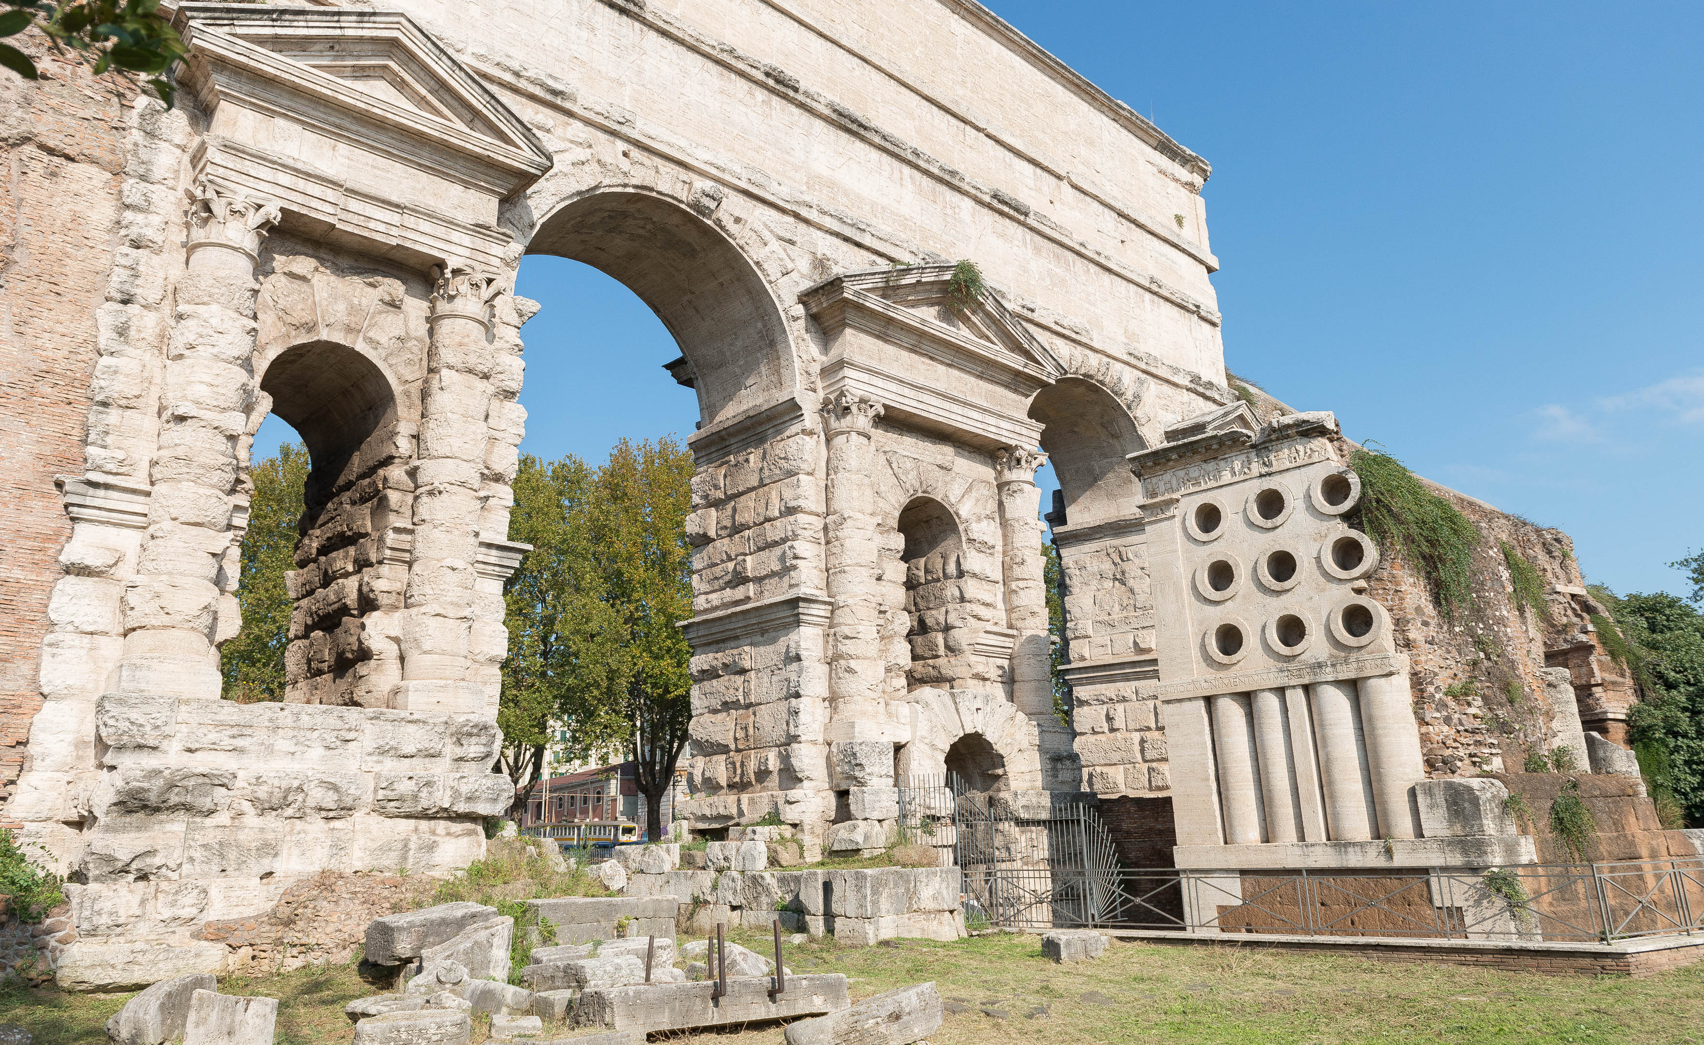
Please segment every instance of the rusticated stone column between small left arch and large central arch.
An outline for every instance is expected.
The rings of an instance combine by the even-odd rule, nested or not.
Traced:
[[[431,348],[421,392],[414,462],[414,552],[400,626],[402,682],[390,706],[409,711],[494,713],[470,678],[481,474],[489,435],[491,273],[440,268],[431,297]]]

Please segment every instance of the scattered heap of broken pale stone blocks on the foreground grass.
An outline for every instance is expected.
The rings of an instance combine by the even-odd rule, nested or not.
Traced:
[[[678,861],[678,852],[651,849],[653,854],[639,851],[608,863],[665,866],[661,859],[670,864]],[[666,875],[676,871],[641,871],[639,878]],[[716,876],[711,871],[702,875]],[[726,875],[743,880],[763,873],[729,869]],[[797,871],[791,875],[801,878]],[[912,895],[903,886],[884,890],[883,885],[869,880],[862,892],[854,885],[845,893],[854,897],[850,905],[861,910],[878,910],[881,897],[898,904],[898,897]],[[528,965],[520,970],[527,987],[503,982],[508,979],[506,955],[501,977],[494,961],[484,967],[489,975],[479,975],[458,960],[433,956],[452,944],[462,946],[462,953],[477,950],[465,946],[475,936],[501,936],[491,927],[509,919],[486,919],[491,909],[445,904],[377,919],[368,938],[373,941],[371,953],[385,960],[380,968],[406,970],[419,963],[419,972],[404,980],[397,994],[365,997],[344,1007],[354,1021],[356,1045],[463,1045],[472,1021],[481,1016],[489,1016],[496,1042],[540,1040],[561,1030],[573,1033],[576,1045],[637,1045],[649,1033],[833,1018],[850,1009],[847,980],[840,973],[794,975],[782,968],[777,980],[772,958],[740,944],[724,943],[717,956],[705,939],[678,943],[675,915],[690,907],[690,895],[685,902],[663,893],[561,897],[528,904],[556,924],[561,943],[528,953]],[[801,943],[806,938],[789,939]],[[678,963],[687,963],[687,968],[678,968]],[[777,990],[779,984],[784,987]],[[823,1023],[799,1033],[813,1035],[801,1038],[813,1045],[908,1045],[939,1023],[941,999],[934,984],[924,984],[861,1002],[849,1021]],[[586,1036],[586,1031],[600,1030],[605,1033]]]

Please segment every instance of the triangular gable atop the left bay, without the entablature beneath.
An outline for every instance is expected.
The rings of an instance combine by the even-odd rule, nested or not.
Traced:
[[[312,97],[317,107],[291,111],[295,118],[377,121],[532,177],[550,169],[532,130],[400,12],[184,3],[177,26],[191,48],[191,78],[210,80],[198,77],[208,68],[242,73],[220,90],[262,94],[271,82]]]

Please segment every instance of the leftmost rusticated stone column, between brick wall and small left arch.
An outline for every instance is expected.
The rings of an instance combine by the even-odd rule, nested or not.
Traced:
[[[150,460],[148,530],[136,576],[124,590],[116,692],[220,696],[215,639],[239,626],[232,619],[235,598],[222,598],[222,573],[232,547],[237,440],[256,394],[254,268],[261,239],[278,218],[278,205],[245,199],[210,181],[191,196],[160,435]]]

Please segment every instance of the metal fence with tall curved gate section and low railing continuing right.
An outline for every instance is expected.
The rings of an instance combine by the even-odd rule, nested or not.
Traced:
[[[1704,857],[1489,871],[1128,869],[1091,806],[976,793],[953,774],[905,781],[900,825],[905,840],[951,852],[971,927],[1603,943],[1704,932]]]

